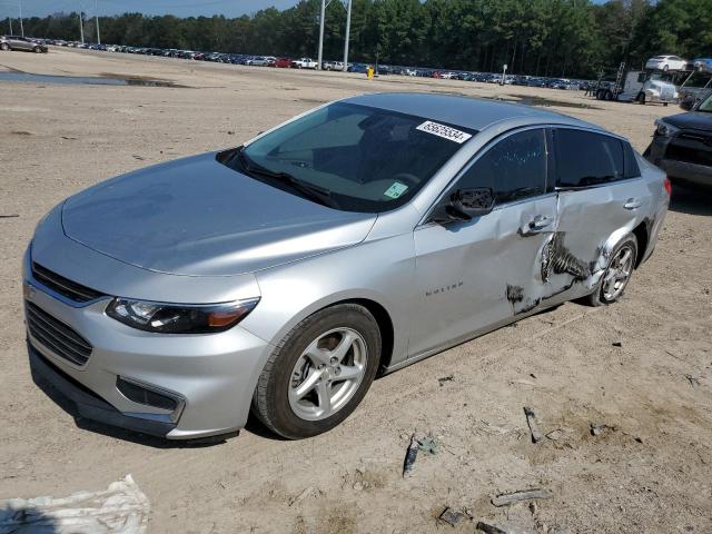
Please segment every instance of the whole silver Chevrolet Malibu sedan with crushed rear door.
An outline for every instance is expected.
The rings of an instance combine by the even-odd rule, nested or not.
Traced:
[[[79,414],[170,439],[328,431],[392,372],[574,298],[617,300],[670,186],[596,126],[370,95],[61,202],[28,348]]]

